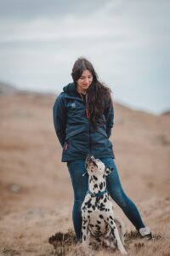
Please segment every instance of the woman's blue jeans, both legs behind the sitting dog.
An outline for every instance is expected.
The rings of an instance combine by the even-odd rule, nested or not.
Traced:
[[[101,158],[105,163],[105,166],[110,166],[113,168],[113,172],[106,177],[106,186],[111,198],[116,202],[116,204],[122,208],[127,218],[132,222],[137,230],[144,228],[144,223],[140,217],[137,207],[134,205],[122,189],[122,184],[120,182],[115,161],[112,158]],[[67,163],[72,187],[74,190],[74,206],[72,211],[72,218],[74,224],[74,230],[76,233],[77,241],[81,239],[82,236],[82,201],[88,191],[88,177],[82,174],[86,172],[85,161],[84,160],[72,160]]]

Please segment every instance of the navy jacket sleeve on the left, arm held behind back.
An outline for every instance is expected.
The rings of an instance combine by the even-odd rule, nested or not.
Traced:
[[[65,144],[65,127],[66,127],[66,112],[65,112],[65,98],[62,94],[60,94],[53,108],[53,116],[54,116],[54,128],[56,135],[59,139],[59,143],[62,147]]]

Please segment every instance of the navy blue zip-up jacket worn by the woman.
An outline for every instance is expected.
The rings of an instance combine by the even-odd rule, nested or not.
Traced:
[[[93,154],[95,158],[114,158],[109,140],[114,110],[112,104],[105,105],[100,125],[95,130],[88,119],[86,104],[78,94],[75,84],[71,83],[63,88],[54,103],[54,127],[63,147],[63,162],[85,160],[87,154]]]

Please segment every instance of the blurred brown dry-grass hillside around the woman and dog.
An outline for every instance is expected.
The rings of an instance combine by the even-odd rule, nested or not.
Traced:
[[[33,93],[0,96],[0,255],[112,255],[103,247],[85,252],[66,241],[54,250],[48,242],[49,236],[64,236],[73,228],[71,180],[60,161],[54,98]],[[111,142],[122,186],[156,238],[135,237],[133,225],[115,206],[127,227],[127,252],[170,255],[170,114],[156,116],[114,105]]]

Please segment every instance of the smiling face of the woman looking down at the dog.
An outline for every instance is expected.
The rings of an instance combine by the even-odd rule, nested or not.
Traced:
[[[77,80],[77,90],[79,92],[86,92],[90,84],[92,84],[93,81],[93,75],[92,73],[87,69],[82,72],[82,75],[80,79]]]

